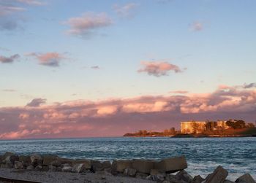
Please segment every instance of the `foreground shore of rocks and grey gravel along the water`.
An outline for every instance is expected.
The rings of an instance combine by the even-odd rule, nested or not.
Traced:
[[[5,179],[34,182],[162,182],[162,183],[232,183],[228,172],[218,166],[206,177],[191,176],[185,171],[186,157],[167,157],[162,160],[67,159],[56,155],[0,155],[0,183]],[[236,183],[255,183],[249,174],[237,177]]]

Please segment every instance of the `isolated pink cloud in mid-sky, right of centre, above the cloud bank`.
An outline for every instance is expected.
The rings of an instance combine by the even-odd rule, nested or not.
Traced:
[[[141,65],[143,68],[139,69],[138,72],[146,72],[155,77],[167,76],[170,71],[181,72],[178,66],[162,61],[142,61]]]

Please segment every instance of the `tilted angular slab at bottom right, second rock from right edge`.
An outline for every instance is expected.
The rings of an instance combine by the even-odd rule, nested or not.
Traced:
[[[227,178],[228,172],[222,166],[218,166],[213,174],[206,177],[204,183],[223,183]]]

